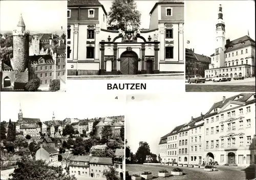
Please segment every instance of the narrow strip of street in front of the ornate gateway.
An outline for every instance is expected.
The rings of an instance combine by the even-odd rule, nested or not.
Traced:
[[[68,76],[68,80],[184,80],[182,73],[152,75]]]

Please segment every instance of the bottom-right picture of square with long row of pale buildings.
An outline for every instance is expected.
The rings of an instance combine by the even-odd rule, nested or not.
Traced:
[[[255,179],[255,93],[132,94],[125,125],[126,180]]]

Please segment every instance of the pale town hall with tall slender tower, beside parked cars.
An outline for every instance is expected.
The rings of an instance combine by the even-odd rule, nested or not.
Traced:
[[[211,55],[209,69],[205,70],[205,77],[215,75],[255,76],[255,40],[248,36],[230,41],[225,39],[225,23],[222,7],[219,7],[218,23],[216,24],[216,49]]]

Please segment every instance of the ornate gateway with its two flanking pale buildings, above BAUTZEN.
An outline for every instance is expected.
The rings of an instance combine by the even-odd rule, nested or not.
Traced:
[[[184,2],[158,2],[149,29],[107,29],[98,1],[68,1],[68,75],[184,72]]]

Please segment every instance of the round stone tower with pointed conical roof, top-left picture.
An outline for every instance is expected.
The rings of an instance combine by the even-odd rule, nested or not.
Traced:
[[[25,85],[29,81],[28,61],[29,61],[29,31],[26,31],[26,26],[20,14],[17,29],[13,30],[13,58],[11,59],[12,69],[14,70],[14,89],[15,83]]]

